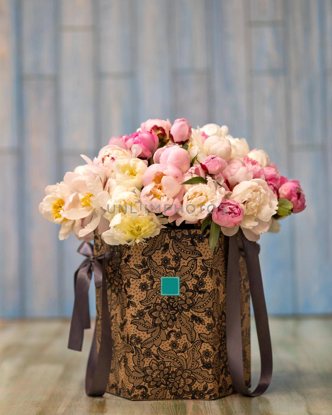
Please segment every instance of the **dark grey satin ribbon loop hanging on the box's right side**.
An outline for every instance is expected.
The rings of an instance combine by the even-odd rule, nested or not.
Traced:
[[[256,389],[249,392],[244,381],[241,308],[239,286],[239,245],[237,235],[229,237],[226,280],[226,345],[229,372],[235,389],[247,396],[259,396],[269,387],[272,377],[272,348],[267,317],[264,290],[259,266],[259,245],[249,241],[239,231],[242,239],[244,258],[247,264],[252,305],[254,309],[259,352],[261,355],[261,376]]]

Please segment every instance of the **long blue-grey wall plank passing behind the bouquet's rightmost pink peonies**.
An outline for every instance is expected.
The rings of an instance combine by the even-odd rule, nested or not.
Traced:
[[[255,51],[253,52],[256,53]],[[283,176],[288,176],[285,85],[283,76],[254,76],[254,146],[264,149]],[[293,218],[292,218],[293,219]],[[271,314],[294,312],[291,220],[280,221],[278,234],[261,237],[260,262],[266,305]],[[283,259],[282,261],[280,259]]]

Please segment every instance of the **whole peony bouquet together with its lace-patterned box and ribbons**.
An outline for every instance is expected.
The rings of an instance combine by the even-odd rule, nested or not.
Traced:
[[[39,210],[61,225],[59,239],[73,232],[85,241],[72,349],[81,349],[90,327],[82,281],[95,274],[87,393],[134,400],[250,394],[249,283],[254,308],[265,310],[259,338],[271,349],[256,241],[305,208],[300,183],[225,125],[194,129],[183,118],[147,120],[112,137],[95,159],[82,157],[86,164],[47,186]],[[227,320],[232,315],[236,322]],[[269,384],[271,364],[262,356],[268,374],[256,395]]]

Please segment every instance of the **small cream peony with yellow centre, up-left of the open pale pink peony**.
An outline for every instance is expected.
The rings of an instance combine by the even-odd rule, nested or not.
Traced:
[[[142,189],[142,177],[147,169],[146,163],[141,159],[115,160],[115,180],[118,185],[127,190],[131,188]]]

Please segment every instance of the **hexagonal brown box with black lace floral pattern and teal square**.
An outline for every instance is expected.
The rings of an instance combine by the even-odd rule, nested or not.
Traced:
[[[228,239],[221,235],[212,255],[200,229],[162,229],[146,245],[132,246],[110,246],[95,234],[95,257],[114,252],[105,264],[113,345],[107,392],[131,400],[215,399],[235,392],[226,350]],[[239,268],[248,387],[250,293],[243,252]],[[101,294],[96,288],[98,350]]]

